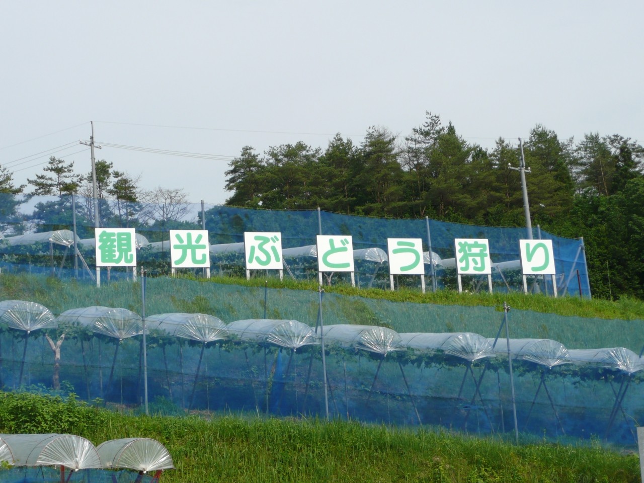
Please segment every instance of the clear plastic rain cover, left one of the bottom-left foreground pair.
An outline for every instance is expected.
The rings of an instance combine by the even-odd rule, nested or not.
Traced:
[[[102,468],[99,452],[90,440],[70,434],[0,435],[11,448],[15,466]]]

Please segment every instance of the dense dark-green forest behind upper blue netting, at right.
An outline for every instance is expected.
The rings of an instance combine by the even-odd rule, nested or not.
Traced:
[[[523,141],[533,226],[583,236],[593,296],[644,298],[644,147],[621,135],[560,139],[536,125]],[[355,145],[245,146],[226,171],[226,204],[385,218],[524,226],[518,140],[484,149],[426,113],[406,136],[372,126]]]

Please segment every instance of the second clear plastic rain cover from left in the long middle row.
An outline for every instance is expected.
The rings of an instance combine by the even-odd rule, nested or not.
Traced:
[[[79,323],[93,332],[122,341],[143,334],[141,317],[126,308],[84,307],[66,310],[58,316],[59,323]]]

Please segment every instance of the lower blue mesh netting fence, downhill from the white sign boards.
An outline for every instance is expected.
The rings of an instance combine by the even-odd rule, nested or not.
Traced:
[[[37,302],[44,301],[39,297],[47,290],[57,290],[55,303],[50,301],[55,314],[90,305],[141,312],[140,286],[131,281],[97,289],[66,282],[52,285],[50,278],[34,276],[32,284]],[[319,294],[148,279],[146,314],[197,311],[215,314],[225,323],[259,319],[266,312],[272,319],[296,319],[316,327]],[[495,337],[503,319],[503,312],[493,307],[395,303],[339,294],[323,294],[322,312],[325,326],[352,323],[385,326],[400,333],[475,332],[484,337]],[[639,354],[644,345],[642,322],[509,312],[511,337],[554,339],[568,349],[624,347]],[[505,343],[504,338],[498,341],[501,348]],[[440,351],[418,354],[405,350],[383,357],[327,346],[326,363],[330,417],[437,424],[484,434],[513,431],[509,372],[503,354],[469,363]],[[520,431],[634,444],[635,428],[644,417],[642,371],[627,374],[607,365],[547,368],[518,359],[514,371]],[[54,372],[53,352],[43,330],[26,337],[24,331],[3,327],[0,385],[5,390],[50,391]],[[151,332],[147,373],[153,412],[325,415],[319,346],[292,351],[232,339],[203,345]],[[100,398],[111,407],[140,407],[144,397],[142,337],[119,342],[70,332],[61,346],[59,381],[61,390],[82,399]]]

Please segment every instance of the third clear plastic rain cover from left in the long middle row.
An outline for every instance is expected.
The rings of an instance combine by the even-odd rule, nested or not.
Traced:
[[[225,323],[208,314],[157,314],[146,317],[146,327],[147,330],[164,330],[170,336],[204,344],[229,338]]]

